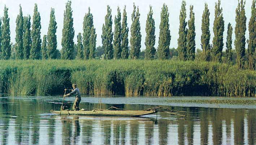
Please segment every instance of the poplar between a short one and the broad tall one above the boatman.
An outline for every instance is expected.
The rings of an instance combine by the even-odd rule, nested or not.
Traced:
[[[55,20],[55,10],[51,8],[50,13],[50,22],[47,32],[47,56],[48,59],[56,59],[56,50],[57,50],[57,22]]]

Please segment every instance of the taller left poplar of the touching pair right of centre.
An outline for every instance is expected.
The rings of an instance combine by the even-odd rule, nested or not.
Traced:
[[[187,22],[186,22],[186,2],[183,0],[181,4],[181,11],[179,14],[179,38],[178,38],[178,52],[179,59],[187,60]]]

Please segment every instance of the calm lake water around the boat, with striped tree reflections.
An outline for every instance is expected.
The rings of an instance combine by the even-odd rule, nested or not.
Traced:
[[[101,108],[143,110],[160,106],[155,99],[165,98],[108,97],[103,98]],[[65,100],[71,108],[74,97]],[[80,108],[97,108],[97,101],[82,97]],[[253,107],[167,105],[169,109],[185,111],[179,114],[186,117],[165,112],[140,118],[60,117],[49,112],[60,110],[61,103],[62,97],[0,97],[0,144],[256,145]]]

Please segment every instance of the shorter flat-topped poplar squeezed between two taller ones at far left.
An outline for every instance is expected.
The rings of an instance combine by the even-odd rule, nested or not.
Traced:
[[[32,39],[31,39],[31,22],[30,22],[30,15],[25,16],[23,19],[23,58],[24,59],[29,59],[30,56],[30,49],[32,45]]]

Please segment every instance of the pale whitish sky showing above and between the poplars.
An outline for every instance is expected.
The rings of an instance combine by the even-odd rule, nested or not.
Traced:
[[[196,27],[196,48],[201,48],[200,38],[201,38],[201,18],[204,10],[204,3],[208,3],[208,8],[210,10],[210,31],[211,31],[211,43],[213,38],[213,21],[214,21],[214,5],[217,0],[186,0],[186,9],[187,9],[187,19],[189,19],[189,6],[194,5],[195,12],[195,27]],[[55,17],[57,22],[57,48],[61,49],[61,37],[62,37],[62,28],[63,28],[63,14],[65,10],[65,3],[67,0],[0,0],[0,17],[3,17],[4,5],[6,5],[9,10],[8,14],[10,17],[10,31],[11,31],[11,42],[15,43],[15,27],[16,27],[16,17],[19,13],[19,4],[22,6],[23,16],[31,15],[31,24],[32,16],[34,11],[34,4],[38,4],[38,11],[41,16],[41,39],[43,35],[47,35],[49,17],[51,7],[55,9]],[[136,6],[139,6],[140,12],[140,27],[142,34],[141,50],[144,50],[145,47],[145,37],[146,37],[146,20],[147,13],[149,11],[149,5],[152,5],[153,8],[153,18],[155,19],[156,27],[156,44],[158,46],[159,40],[159,25],[160,25],[160,14],[162,5],[165,3],[169,9],[169,24],[170,24],[170,34],[172,36],[170,42],[170,48],[177,48],[178,46],[178,30],[179,30],[179,11],[181,9],[182,0],[72,0],[71,7],[73,9],[73,18],[74,18],[74,42],[77,43],[77,35],[79,32],[83,32],[83,17],[85,13],[88,12],[88,7],[91,8],[91,13],[94,17],[94,27],[96,28],[96,46],[101,44],[101,34],[102,34],[102,25],[104,23],[104,17],[107,14],[107,5],[110,5],[112,9],[112,20],[113,20],[113,29],[114,31],[114,16],[117,14],[117,6],[120,6],[121,14],[123,12],[124,5],[126,5],[127,12],[127,23],[130,30],[131,26],[131,13],[133,12],[133,2]],[[224,49],[226,48],[226,33],[227,33],[227,24],[230,22],[233,27],[233,49],[234,49],[234,28],[235,28],[235,9],[237,8],[238,0],[222,0],[221,6],[223,8],[223,16],[225,20],[225,31],[224,31]],[[247,17],[247,31],[246,39],[248,39],[248,22],[251,17],[251,4],[252,0],[247,0],[245,5],[246,17]],[[129,40],[130,40],[130,31],[129,31]],[[129,42],[130,45],[130,42]],[[247,47],[247,45],[246,45]]]

